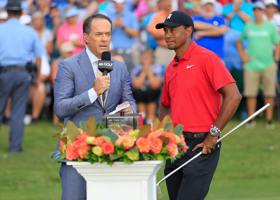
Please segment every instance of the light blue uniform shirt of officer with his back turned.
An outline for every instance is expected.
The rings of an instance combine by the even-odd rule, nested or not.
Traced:
[[[15,44],[15,45],[12,45]],[[21,25],[18,18],[10,18],[0,24],[0,65],[26,65],[35,57],[46,54],[37,32],[27,25]]]

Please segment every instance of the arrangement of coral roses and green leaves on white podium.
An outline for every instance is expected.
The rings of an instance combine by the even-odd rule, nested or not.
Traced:
[[[52,154],[54,161],[88,161],[90,163],[107,162],[112,166],[115,161],[130,164],[137,160],[175,159],[187,151],[183,126],[174,127],[170,115],[161,122],[155,119],[153,128],[146,124],[139,130],[130,130],[118,134],[110,128],[103,128],[94,117],[80,122],[77,128],[72,121],[66,127],[59,124],[59,151]]]

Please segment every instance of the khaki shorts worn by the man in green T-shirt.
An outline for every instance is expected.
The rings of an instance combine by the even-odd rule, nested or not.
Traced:
[[[261,72],[244,70],[244,96],[257,97],[260,83],[263,84],[263,95],[265,97],[276,96],[277,65],[273,63],[269,68]]]

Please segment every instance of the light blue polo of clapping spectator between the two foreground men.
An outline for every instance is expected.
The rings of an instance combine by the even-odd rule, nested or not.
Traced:
[[[119,16],[119,13],[117,12],[110,12],[107,14],[107,16],[112,20],[114,23],[114,20]],[[139,30],[139,22],[132,12],[124,11],[121,15],[121,18],[123,19],[123,24],[125,27],[133,28],[135,30]],[[132,47],[132,44],[137,41],[137,38],[130,37],[123,28],[116,27],[112,30],[111,35],[111,43],[113,43],[113,47],[115,50],[117,49],[128,49]]]

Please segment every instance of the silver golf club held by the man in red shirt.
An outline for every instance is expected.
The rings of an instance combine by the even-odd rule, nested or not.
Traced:
[[[222,137],[220,137],[217,141],[217,143],[219,141],[221,141],[222,139],[224,139],[225,137],[227,137],[229,134],[231,134],[233,131],[235,131],[236,129],[238,129],[240,126],[244,125],[245,123],[247,123],[248,121],[250,121],[251,119],[253,119],[254,117],[256,117],[257,115],[259,115],[261,112],[263,112],[264,110],[266,110],[268,107],[270,106],[269,103],[267,103],[265,106],[263,106],[261,109],[259,109],[257,112],[255,112],[254,114],[252,114],[251,116],[249,116],[247,119],[245,119],[244,121],[242,121],[240,124],[238,124],[237,126],[235,126],[232,130],[230,130],[229,132],[227,132],[226,134],[224,134]],[[199,152],[198,154],[196,154],[194,157],[192,157],[191,159],[189,159],[188,161],[186,161],[185,163],[183,163],[180,167],[178,167],[177,169],[173,170],[172,172],[170,172],[169,174],[167,174],[165,177],[163,177],[163,179],[161,179],[156,187],[157,187],[157,196],[159,199],[163,198],[163,194],[161,192],[161,189],[159,187],[159,184],[164,181],[165,179],[167,179],[168,177],[170,177],[172,174],[174,174],[175,172],[177,172],[179,169],[181,169],[182,167],[184,167],[185,165],[187,165],[188,163],[190,163],[192,160],[196,159],[197,157],[199,157],[202,154],[202,151]]]

